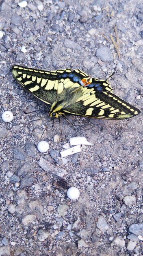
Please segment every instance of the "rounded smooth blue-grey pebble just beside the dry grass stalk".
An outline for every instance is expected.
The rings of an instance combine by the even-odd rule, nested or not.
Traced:
[[[113,61],[113,54],[107,47],[100,47],[96,50],[96,57],[98,57],[101,61],[111,62]]]

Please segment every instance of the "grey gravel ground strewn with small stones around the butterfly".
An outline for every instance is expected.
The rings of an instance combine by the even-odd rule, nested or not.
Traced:
[[[142,114],[120,121],[69,116],[77,126],[61,119],[64,140],[54,142],[58,121],[52,128],[47,106],[14,81],[11,67],[80,68],[100,79],[115,70],[115,94],[142,110],[143,2],[18,2],[0,2],[0,110],[14,115],[10,123],[0,119],[0,255],[141,256]],[[110,39],[116,41],[115,25],[120,58]],[[46,125],[50,148],[40,153]],[[59,157],[75,136],[94,146]],[[67,198],[71,186],[80,190],[78,200]]]

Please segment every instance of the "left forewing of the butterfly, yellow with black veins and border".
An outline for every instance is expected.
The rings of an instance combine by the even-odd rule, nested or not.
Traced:
[[[57,97],[59,76],[56,72],[43,71],[15,65],[13,77],[22,87],[47,104],[52,104]]]

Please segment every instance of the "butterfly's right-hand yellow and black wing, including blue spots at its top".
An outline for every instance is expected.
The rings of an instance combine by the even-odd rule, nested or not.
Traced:
[[[138,115],[141,111],[128,102],[108,92],[100,81],[82,87],[82,95],[70,106],[63,109],[64,113],[101,119],[126,119]],[[98,86],[96,86],[98,84]],[[105,88],[104,88],[105,87]]]

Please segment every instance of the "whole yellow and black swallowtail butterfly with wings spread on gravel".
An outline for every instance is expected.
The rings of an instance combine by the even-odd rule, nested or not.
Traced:
[[[108,79],[92,78],[81,70],[44,71],[15,65],[13,77],[27,91],[50,105],[49,116],[66,114],[99,119],[126,119],[141,111],[113,94]]]

